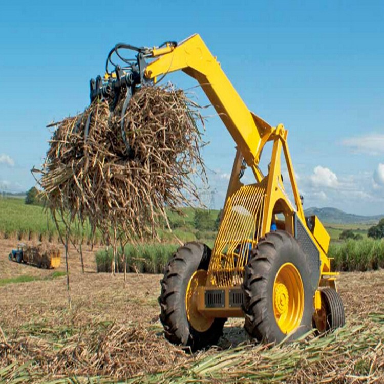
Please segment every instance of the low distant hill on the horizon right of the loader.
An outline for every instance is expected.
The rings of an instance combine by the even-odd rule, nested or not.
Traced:
[[[346,214],[346,212],[332,207],[311,207],[305,209],[304,214],[305,216],[316,215],[323,223],[332,224],[376,224],[381,218],[384,218],[384,214],[376,216]]]

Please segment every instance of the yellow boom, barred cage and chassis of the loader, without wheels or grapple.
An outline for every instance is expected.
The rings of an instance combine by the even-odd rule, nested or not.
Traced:
[[[237,143],[223,218],[204,277],[205,284],[196,288],[194,296],[198,311],[207,318],[243,316],[241,284],[244,267],[250,250],[270,231],[272,222],[296,238],[301,236],[309,247],[314,255],[311,267],[316,287],[335,288],[336,273],[331,272],[327,257],[330,237],[317,217],[304,216],[287,144],[288,131],[283,124],[271,126],[249,111],[199,35],[189,37],[177,47],[154,49],[152,57],[155,59],[148,63],[145,77],[156,82],[159,76],[181,70],[195,78]],[[267,142],[272,142],[272,155],[269,172],[263,175],[259,162]],[[282,157],[288,170],[293,202],[283,183]],[[252,169],[253,184],[243,185],[239,180],[244,162]],[[294,275],[292,268],[287,267],[287,271]],[[284,302],[283,284],[276,283],[276,290],[280,292],[276,295],[280,294]],[[320,300],[316,291],[313,297],[315,309],[321,306]],[[288,324],[287,329],[289,327]]]

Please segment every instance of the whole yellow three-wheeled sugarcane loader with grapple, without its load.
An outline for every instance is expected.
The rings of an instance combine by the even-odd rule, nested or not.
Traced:
[[[137,51],[135,60],[123,59],[121,49]],[[126,66],[109,72],[113,53]],[[142,84],[156,84],[179,70],[199,82],[237,152],[214,248],[186,243],[165,269],[159,303],[166,338],[192,350],[216,344],[228,317],[244,317],[249,335],[267,343],[294,339],[312,328],[323,333],[343,326],[337,274],[327,257],[330,236],[316,216],[304,216],[288,131],[248,110],[199,35],[154,48],[116,45],[104,78],[91,80],[91,100],[118,100],[123,94],[123,117]],[[264,175],[259,164],[268,142],[272,155]],[[283,183],[282,154],[293,202]],[[240,180],[245,167],[252,170],[253,184]]]

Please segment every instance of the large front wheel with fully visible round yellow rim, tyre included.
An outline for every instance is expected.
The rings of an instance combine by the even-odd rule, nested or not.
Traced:
[[[259,342],[293,340],[312,329],[308,257],[286,231],[267,233],[251,251],[243,281],[244,328]]]

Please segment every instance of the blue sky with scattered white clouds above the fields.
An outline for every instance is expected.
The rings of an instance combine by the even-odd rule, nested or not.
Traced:
[[[25,2],[0,13],[0,190],[26,190],[47,123],[80,112],[116,42],[199,33],[249,109],[282,122],[305,207],[384,213],[384,2]],[[184,74],[177,86],[195,84]],[[198,101],[207,100],[196,90]],[[214,115],[214,110],[207,112]],[[204,150],[223,203],[234,142],[217,117]],[[251,178],[249,177],[249,181]]]

